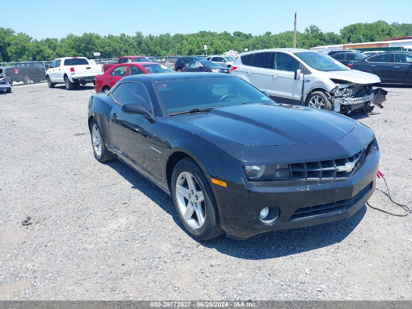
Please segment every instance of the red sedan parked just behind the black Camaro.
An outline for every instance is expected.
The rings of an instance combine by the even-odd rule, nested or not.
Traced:
[[[155,62],[130,62],[116,64],[103,74],[96,76],[96,93],[109,91],[122,77],[137,74],[174,72]]]

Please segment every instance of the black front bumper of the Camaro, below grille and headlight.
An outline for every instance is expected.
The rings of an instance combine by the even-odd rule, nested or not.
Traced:
[[[260,187],[247,180],[227,182],[227,187],[215,186],[222,228],[227,236],[247,239],[268,231],[313,226],[351,217],[368,201],[375,188],[379,165],[379,149],[370,153],[358,165],[352,176],[333,181],[312,181],[300,185]],[[323,206],[337,205],[340,207]],[[260,210],[276,206],[278,219],[269,225],[259,220]],[[323,207],[325,208],[325,207]],[[296,213],[306,215],[296,215]]]

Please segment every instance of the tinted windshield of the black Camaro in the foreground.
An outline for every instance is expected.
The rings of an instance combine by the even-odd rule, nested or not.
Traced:
[[[165,114],[242,103],[275,104],[255,87],[239,78],[192,78],[159,81],[153,85]]]

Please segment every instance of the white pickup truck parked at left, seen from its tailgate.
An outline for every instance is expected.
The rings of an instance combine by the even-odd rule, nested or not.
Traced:
[[[46,71],[46,80],[49,88],[54,88],[57,83],[64,83],[67,90],[79,84],[96,81],[96,75],[103,73],[101,64],[90,64],[84,57],[58,58]]]

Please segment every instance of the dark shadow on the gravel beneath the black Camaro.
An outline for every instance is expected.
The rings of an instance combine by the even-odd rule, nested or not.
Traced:
[[[157,185],[153,184],[128,165],[118,160],[107,162],[106,165],[116,170],[132,188],[139,190],[160,208],[166,211],[176,225],[193,238],[180,223],[172,198]],[[337,222],[326,223],[313,227],[273,231],[248,239],[235,240],[225,235],[212,240],[203,241],[204,247],[233,257],[248,260],[264,260],[291,254],[306,252],[320,247],[327,247],[345,239],[365,216],[366,206],[363,206],[351,218]],[[172,224],[172,222],[170,222]],[[195,238],[193,238],[196,242]]]

